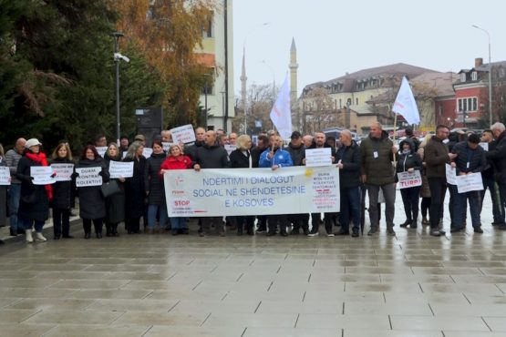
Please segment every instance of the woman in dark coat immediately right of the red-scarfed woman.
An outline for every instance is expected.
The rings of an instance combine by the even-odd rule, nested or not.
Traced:
[[[72,164],[72,152],[68,147],[67,143],[59,143],[57,148],[51,155],[51,164]],[[68,181],[57,181],[53,184],[53,233],[55,234],[55,240],[59,240],[60,237],[65,239],[73,238],[69,234],[70,230],[70,209],[73,204],[74,193],[73,184],[71,180]]]

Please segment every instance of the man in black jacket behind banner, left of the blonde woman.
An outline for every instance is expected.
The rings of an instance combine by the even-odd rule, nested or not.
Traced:
[[[197,148],[195,158],[193,158],[193,168],[200,171],[201,168],[228,168],[230,166],[227,150],[216,143],[216,132],[210,130],[205,133],[205,142]],[[202,231],[199,233],[201,237],[209,235],[211,222],[217,234],[225,236],[222,217],[202,217]]]

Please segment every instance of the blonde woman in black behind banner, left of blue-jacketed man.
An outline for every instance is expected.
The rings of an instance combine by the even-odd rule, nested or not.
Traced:
[[[241,135],[237,138],[236,146],[230,154],[231,168],[253,168],[253,158],[250,153],[252,139],[248,135]],[[237,216],[237,235],[243,235],[243,228],[246,228],[248,235],[254,234],[254,216]]]

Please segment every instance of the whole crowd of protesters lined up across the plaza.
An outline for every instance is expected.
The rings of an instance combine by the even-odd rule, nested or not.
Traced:
[[[430,235],[444,235],[443,214],[448,211],[449,230],[453,233],[465,230],[469,203],[470,225],[475,233],[482,233],[480,213],[485,191],[489,189],[492,225],[506,230],[506,131],[501,123],[495,123],[480,135],[450,133],[449,128],[439,125],[435,135],[428,135],[421,143],[408,128],[407,137],[398,147],[379,123],[371,125],[370,134],[359,145],[349,130],[341,131],[339,139],[326,138],[323,132],[303,136],[294,131],[287,146],[274,131],[261,133],[256,145],[247,135],[226,135],[222,130],[196,128],[195,138],[193,144],[174,144],[170,131],[163,130],[151,144],[146,144],[146,138],[138,135],[131,144],[129,138],[121,137],[118,145],[108,144],[107,138],[99,135],[94,145],[87,145],[80,151],[78,158],[73,157],[66,140],[61,141],[49,156],[36,138],[19,138],[6,153],[0,145],[0,167],[8,167],[11,173],[10,185],[0,185],[0,226],[6,225],[8,217],[11,236],[25,235],[26,242],[46,241],[42,230],[52,209],[54,239],[72,239],[69,220],[78,198],[78,215],[85,239],[92,237],[92,224],[98,239],[102,238],[104,224],[106,236],[119,236],[120,223],[124,223],[128,234],[141,231],[189,234],[188,219],[168,215],[163,175],[170,174],[170,170],[284,169],[305,166],[305,150],[308,148],[330,148],[332,163],[339,168],[339,213],[251,214],[227,217],[226,220],[201,217],[199,235],[211,235],[213,228],[220,236],[231,230],[236,230],[237,235],[266,233],[267,236],[278,233],[297,235],[302,230],[305,235],[314,237],[320,234],[320,224],[323,223],[326,236],[351,234],[356,238],[364,226],[361,205],[367,192],[370,222],[367,235],[379,231],[379,196],[382,194],[387,235],[395,236],[397,173],[414,171],[420,172],[422,184],[400,190],[406,215],[400,228],[417,229],[418,225],[427,225]],[[168,147],[164,146],[166,143]],[[144,148],[148,145],[152,152],[149,158],[144,158]],[[97,148],[105,147],[105,153],[99,155]],[[133,162],[133,176],[111,179],[108,168],[113,161]],[[114,185],[115,191],[104,196],[101,186],[77,188],[76,170],[69,181],[34,184],[31,168],[53,163],[99,168],[103,183]],[[480,173],[484,189],[459,193],[457,187],[447,181],[447,164],[456,169],[458,176]],[[449,208],[445,209],[447,189]],[[141,224],[144,230],[141,230]],[[335,232],[335,226],[340,226],[340,230]]]

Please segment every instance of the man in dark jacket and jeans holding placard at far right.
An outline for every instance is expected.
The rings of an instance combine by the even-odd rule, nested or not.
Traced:
[[[454,158],[451,166],[456,168],[457,176],[465,176],[470,173],[481,173],[487,167],[487,158],[485,150],[478,144],[480,137],[476,134],[470,134],[467,141],[457,143],[452,152],[458,157]],[[481,186],[482,187],[482,186]],[[452,233],[465,230],[464,225],[464,205],[470,203],[470,218],[475,233],[482,233],[480,221],[480,190],[470,190],[469,192],[457,193],[455,202],[455,226],[451,228]]]

